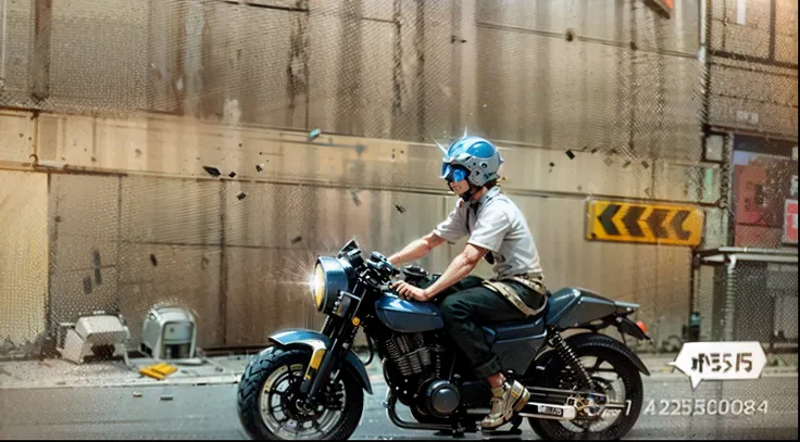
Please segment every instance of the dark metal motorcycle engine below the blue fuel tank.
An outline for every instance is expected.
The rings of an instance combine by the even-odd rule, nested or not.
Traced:
[[[385,345],[392,371],[400,378],[392,379],[389,387],[401,403],[434,417],[446,417],[459,407],[458,387],[442,379],[443,348],[428,345],[423,333],[393,334]]]

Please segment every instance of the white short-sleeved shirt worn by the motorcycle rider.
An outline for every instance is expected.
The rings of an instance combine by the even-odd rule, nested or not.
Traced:
[[[434,235],[449,242],[468,235],[468,243],[491,251],[498,276],[541,274],[534,236],[520,207],[498,187],[489,189],[477,204],[475,213],[459,199],[447,219],[436,226]]]

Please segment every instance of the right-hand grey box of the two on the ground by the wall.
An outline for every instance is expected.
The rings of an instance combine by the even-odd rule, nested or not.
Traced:
[[[150,310],[142,326],[142,353],[155,359],[195,357],[197,324],[191,313],[168,306]]]

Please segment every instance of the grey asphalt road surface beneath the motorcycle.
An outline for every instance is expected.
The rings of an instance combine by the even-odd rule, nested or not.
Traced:
[[[367,395],[353,439],[432,438],[429,432],[391,426],[382,406],[386,386],[373,376],[373,388],[375,395]],[[645,388],[645,406],[651,400],[653,405],[627,439],[797,440],[798,382],[793,374],[724,386],[704,382],[693,393],[686,377],[658,375],[646,378]],[[0,390],[0,439],[247,439],[236,415],[235,391],[233,384]],[[714,416],[683,416],[692,412],[698,399],[727,402],[713,406],[703,402],[703,409],[714,409]],[[742,403],[729,407],[736,400]],[[761,409],[748,415],[742,406],[747,400]],[[726,415],[718,416],[723,411]],[[527,424],[523,428],[524,439],[537,439]],[[480,437],[467,434],[466,439]]]

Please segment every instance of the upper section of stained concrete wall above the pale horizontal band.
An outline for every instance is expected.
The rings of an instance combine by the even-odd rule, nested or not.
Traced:
[[[468,127],[699,159],[699,0],[675,1],[670,20],[638,0],[78,0],[40,20],[49,40],[33,3],[9,3],[1,105],[427,142]],[[42,60],[50,94],[37,101]]]

